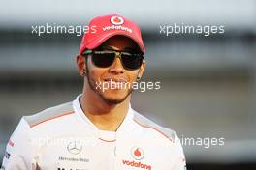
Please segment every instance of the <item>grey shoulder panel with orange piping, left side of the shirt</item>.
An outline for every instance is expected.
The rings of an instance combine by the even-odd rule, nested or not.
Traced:
[[[23,116],[23,119],[27,122],[29,127],[32,128],[49,120],[53,120],[55,118],[59,118],[73,113],[74,109],[72,106],[72,101],[70,101],[53,107],[49,107],[34,115]]]

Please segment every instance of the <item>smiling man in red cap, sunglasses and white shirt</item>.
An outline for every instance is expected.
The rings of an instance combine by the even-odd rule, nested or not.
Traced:
[[[143,75],[140,28],[117,15],[91,20],[83,35],[78,71],[83,91],[73,102],[24,116],[11,136],[5,170],[183,170],[174,131],[144,118],[130,105]]]

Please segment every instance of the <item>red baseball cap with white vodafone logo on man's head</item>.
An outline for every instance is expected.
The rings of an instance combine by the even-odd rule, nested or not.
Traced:
[[[140,27],[119,14],[103,15],[93,18],[88,27],[90,30],[83,34],[80,42],[80,54],[85,49],[94,49],[112,36],[122,35],[137,42],[142,52],[145,52]]]

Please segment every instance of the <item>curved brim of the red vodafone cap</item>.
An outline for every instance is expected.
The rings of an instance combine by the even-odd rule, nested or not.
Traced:
[[[125,36],[128,37],[130,39],[132,39],[134,42],[136,42],[138,44],[138,46],[140,47],[140,49],[142,50],[142,52],[144,53],[145,48],[144,48],[144,44],[143,42],[141,42],[140,40],[138,40],[137,38],[131,36],[130,34],[125,34],[123,31],[115,31],[106,35],[102,35],[102,36],[97,36],[97,39],[95,39],[94,41],[90,42],[86,48],[87,49],[94,49],[97,48],[98,46],[100,46],[103,42],[106,42],[108,39],[112,38],[113,36]],[[84,50],[84,49],[83,49]],[[82,51],[83,51],[82,50]]]

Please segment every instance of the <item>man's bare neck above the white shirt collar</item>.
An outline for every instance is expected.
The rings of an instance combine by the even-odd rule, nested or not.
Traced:
[[[103,99],[88,99],[84,93],[80,106],[86,117],[99,129],[116,131],[128,113],[130,96],[119,104],[109,104]]]

